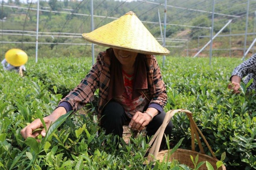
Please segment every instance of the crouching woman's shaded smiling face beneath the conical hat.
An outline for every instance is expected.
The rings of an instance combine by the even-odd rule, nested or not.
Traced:
[[[117,60],[119,60],[122,66],[132,67],[134,65],[138,53],[115,48],[113,50],[115,57],[117,57]]]

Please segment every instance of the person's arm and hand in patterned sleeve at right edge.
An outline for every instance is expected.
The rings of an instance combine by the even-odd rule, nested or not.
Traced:
[[[228,85],[228,88],[233,90],[233,92],[236,94],[240,93],[239,88],[243,77],[245,77],[243,80],[245,84],[253,79],[252,84],[250,84],[247,90],[256,90],[256,54],[252,55],[252,57],[250,57],[248,60],[245,60],[234,69],[230,77],[231,83]]]

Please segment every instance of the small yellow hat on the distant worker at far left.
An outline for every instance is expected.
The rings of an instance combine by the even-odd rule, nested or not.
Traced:
[[[21,49],[10,49],[5,55],[6,61],[13,66],[21,66],[28,61],[28,55]]]

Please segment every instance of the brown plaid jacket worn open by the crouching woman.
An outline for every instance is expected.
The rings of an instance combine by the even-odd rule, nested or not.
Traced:
[[[68,102],[72,109],[77,111],[88,102],[93,101],[94,92],[99,89],[97,113],[98,117],[101,117],[104,106],[109,102],[111,55],[114,55],[112,48],[100,52],[89,74],[59,103]],[[150,101],[148,107],[150,105],[152,107],[160,105],[161,109],[163,109],[167,101],[167,94],[156,57],[154,55],[141,55],[138,57],[143,57],[147,70],[147,88],[143,88],[138,92],[145,95]],[[140,74],[139,72],[138,74]],[[134,83],[136,84],[136,82]]]

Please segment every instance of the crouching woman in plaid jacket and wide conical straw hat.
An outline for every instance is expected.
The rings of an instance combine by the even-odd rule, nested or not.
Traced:
[[[89,74],[62,99],[52,114],[44,117],[46,126],[61,115],[83,108],[94,100],[99,89],[97,114],[99,124],[106,134],[122,137],[122,126],[132,130],[146,127],[152,136],[165,117],[163,108],[167,102],[166,87],[154,55],[167,55],[163,48],[132,11],[91,33],[84,33],[86,40],[110,47],[100,52]],[[40,119],[21,130],[21,135],[37,137],[46,135]],[[165,135],[171,135],[170,121]],[[165,144],[165,139],[162,140]]]

